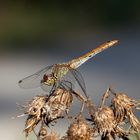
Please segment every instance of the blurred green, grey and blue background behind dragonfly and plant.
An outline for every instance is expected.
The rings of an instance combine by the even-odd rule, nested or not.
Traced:
[[[119,43],[79,68],[87,93],[97,105],[109,85],[140,99],[139,7],[139,0],[1,0],[1,138],[24,139],[25,118],[11,120],[22,113],[16,102],[44,93],[40,88],[20,89],[20,79],[81,56],[108,40],[118,39]],[[65,125],[61,124],[61,130],[60,124],[55,128],[61,135]]]

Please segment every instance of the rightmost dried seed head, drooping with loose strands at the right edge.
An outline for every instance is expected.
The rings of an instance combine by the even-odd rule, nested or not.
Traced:
[[[117,123],[123,122],[127,117],[134,130],[139,132],[140,122],[133,113],[133,108],[137,107],[139,102],[129,98],[125,94],[118,94],[113,98],[112,104],[114,107],[115,120]]]

